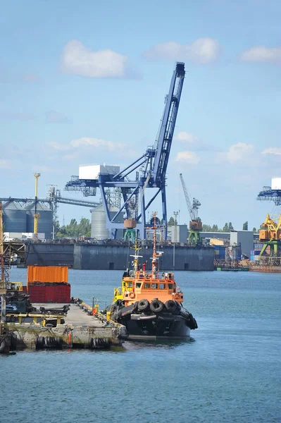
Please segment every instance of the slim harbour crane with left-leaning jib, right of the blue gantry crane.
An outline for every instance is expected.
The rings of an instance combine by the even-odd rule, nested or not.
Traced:
[[[182,173],[180,173],[180,180],[182,183],[182,189],[185,194],[185,201],[187,202],[187,209],[189,211],[189,216],[191,221],[189,221],[189,235],[188,235],[188,242],[190,244],[201,244],[201,236],[200,231],[202,231],[202,222],[201,219],[198,217],[198,210],[201,206],[201,202],[199,200],[196,200],[196,198],[193,199],[193,201],[190,201],[187,187],[185,185],[185,181],[182,178]]]

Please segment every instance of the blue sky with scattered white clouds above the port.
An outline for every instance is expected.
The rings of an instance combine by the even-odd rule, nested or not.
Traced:
[[[39,172],[39,197],[56,185],[83,199],[64,191],[80,165],[135,161],[183,61],[168,216],[189,221],[182,173],[203,223],[258,227],[280,212],[256,201],[281,176],[280,20],[279,0],[4,0],[0,197],[34,196]],[[81,216],[89,209],[59,205],[61,224]]]

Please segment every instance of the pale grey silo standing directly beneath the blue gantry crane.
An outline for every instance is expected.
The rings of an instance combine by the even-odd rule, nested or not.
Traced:
[[[109,215],[111,219],[118,212],[118,208],[114,206],[108,206]],[[104,204],[100,204],[98,207],[90,210],[92,213],[92,225],[91,225],[91,238],[96,240],[107,240],[111,238],[109,231],[106,228],[106,211],[104,209]],[[117,219],[118,223],[123,223],[123,213],[121,212]],[[118,230],[117,238],[123,238],[123,230]]]

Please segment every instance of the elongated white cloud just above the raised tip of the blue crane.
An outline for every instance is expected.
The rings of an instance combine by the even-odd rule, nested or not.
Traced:
[[[192,61],[206,64],[215,61],[220,54],[220,44],[213,38],[198,38],[192,44],[164,42],[146,51],[144,56],[149,59],[168,59]]]

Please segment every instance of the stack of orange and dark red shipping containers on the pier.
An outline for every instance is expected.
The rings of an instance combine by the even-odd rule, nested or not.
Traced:
[[[28,266],[30,302],[70,302],[67,266]]]

